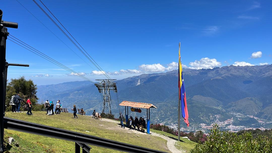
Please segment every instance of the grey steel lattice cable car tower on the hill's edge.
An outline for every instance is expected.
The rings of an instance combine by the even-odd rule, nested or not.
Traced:
[[[112,114],[112,110],[110,108],[110,104],[112,104],[112,99],[110,98],[110,90],[113,90],[114,93],[117,92],[117,87],[114,80],[116,79],[97,80],[98,83],[94,84],[98,88],[98,91],[101,93],[103,100],[102,113]]]

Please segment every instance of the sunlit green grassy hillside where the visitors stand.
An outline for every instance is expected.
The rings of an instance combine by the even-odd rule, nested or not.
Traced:
[[[146,148],[170,152],[168,146],[166,145],[167,140],[158,136],[147,135],[146,133],[138,132],[135,130],[130,131],[128,130],[128,128],[122,129],[118,125],[119,122],[115,120],[96,120],[90,116],[78,116],[78,119],[74,119],[72,113],[61,113],[60,115],[48,116],[45,114],[45,112],[35,111],[33,111],[32,116],[26,115],[25,113],[6,113],[6,117],[16,118],[33,123],[44,124],[61,129],[67,129],[88,135],[98,136],[101,138],[138,145]],[[155,132],[155,130],[152,130],[151,133],[152,132]],[[176,136],[170,135],[169,133],[165,132],[159,132],[159,134],[176,138]],[[7,145],[10,153],[72,153],[75,149],[74,142],[48,138],[45,136],[39,136],[29,133],[17,132],[13,130],[5,129],[4,137],[6,144],[9,137],[13,137],[15,139],[15,141],[11,143],[11,145]],[[188,152],[191,148],[194,148],[195,144],[196,143],[186,139],[183,142],[176,141],[175,146]],[[91,152],[120,152],[96,146],[91,147]]]

